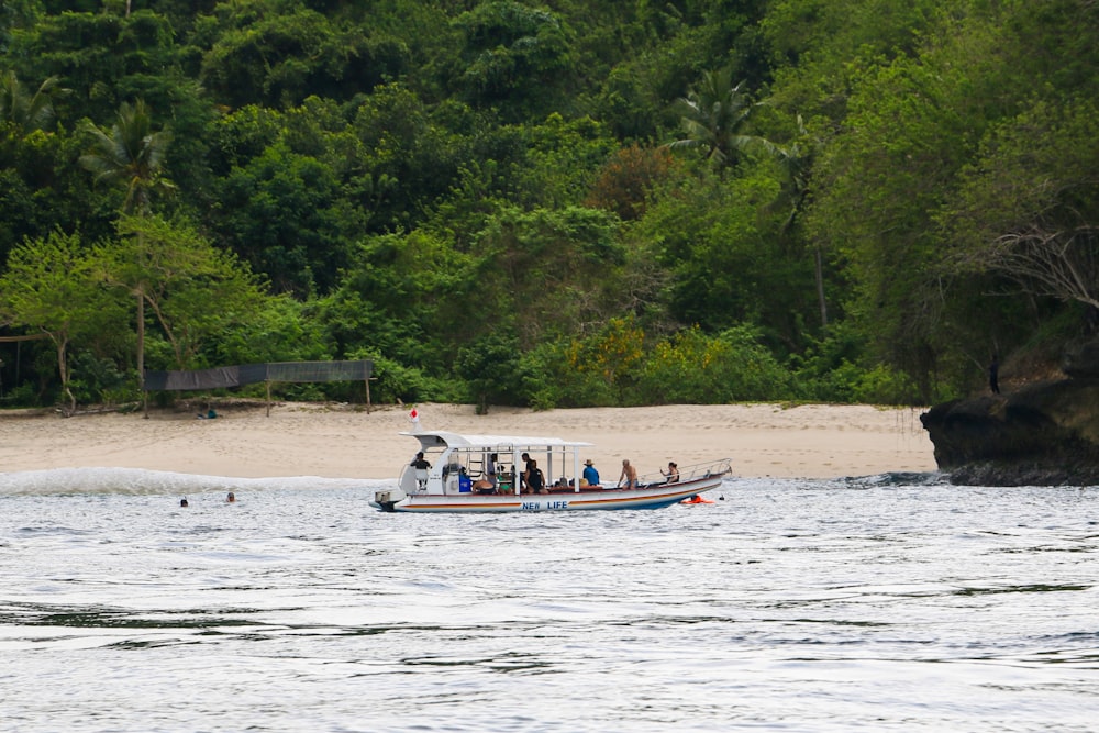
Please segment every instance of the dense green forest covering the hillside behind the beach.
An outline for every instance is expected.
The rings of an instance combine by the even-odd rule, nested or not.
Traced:
[[[963,395],[1099,324],[1097,100],[1095,0],[2,0],[0,401]]]

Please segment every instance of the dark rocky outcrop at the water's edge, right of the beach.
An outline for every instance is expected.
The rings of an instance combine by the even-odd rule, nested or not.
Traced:
[[[1099,369],[1088,363],[1066,365],[1075,378],[922,414],[939,468],[968,486],[1099,485]]]

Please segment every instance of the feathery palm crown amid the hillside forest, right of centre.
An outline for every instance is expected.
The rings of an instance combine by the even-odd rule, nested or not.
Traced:
[[[764,138],[742,132],[753,109],[741,92],[743,86],[732,84],[731,67],[703,74],[701,84],[677,102],[684,137],[668,147],[701,149],[720,170],[753,147],[770,149]]]

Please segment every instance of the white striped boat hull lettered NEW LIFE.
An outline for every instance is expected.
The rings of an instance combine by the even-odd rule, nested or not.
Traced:
[[[660,509],[688,497],[715,489],[728,473],[680,484],[660,484],[636,489],[564,490],[523,495],[403,495],[378,491],[371,507],[391,512],[547,512],[617,509]]]

